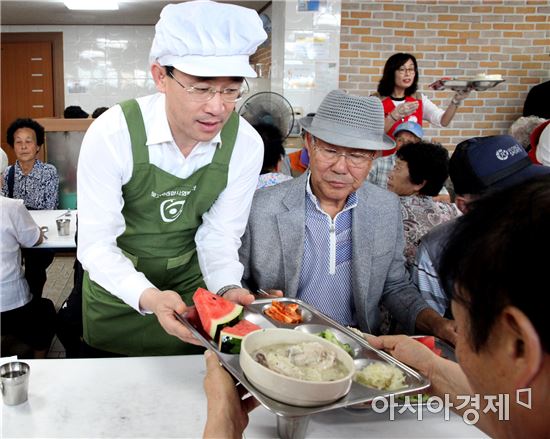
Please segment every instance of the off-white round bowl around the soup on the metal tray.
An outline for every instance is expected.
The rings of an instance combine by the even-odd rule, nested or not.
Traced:
[[[336,381],[304,381],[274,372],[252,357],[265,346],[308,341],[319,342],[334,351],[349,373]],[[343,397],[349,392],[355,373],[353,358],[342,348],[317,335],[293,329],[269,328],[251,332],[242,341],[239,360],[246,378],[260,392],[277,401],[301,407],[325,405]]]

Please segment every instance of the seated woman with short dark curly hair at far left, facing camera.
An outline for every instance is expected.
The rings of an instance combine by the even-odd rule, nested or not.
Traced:
[[[3,174],[2,195],[23,200],[30,210],[56,209],[59,187],[57,170],[37,158],[44,144],[44,127],[32,119],[17,119],[8,127],[7,142],[14,149],[17,161]],[[46,283],[46,268],[53,261],[53,253],[24,251],[23,257],[25,277],[31,292],[41,297]]]

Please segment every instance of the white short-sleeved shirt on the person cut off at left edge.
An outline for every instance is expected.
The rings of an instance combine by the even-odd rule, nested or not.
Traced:
[[[32,247],[40,238],[23,200],[0,196],[0,311],[20,308],[32,299],[21,266],[21,247]]]

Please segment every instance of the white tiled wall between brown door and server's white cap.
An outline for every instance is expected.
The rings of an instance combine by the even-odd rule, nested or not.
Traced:
[[[97,107],[155,92],[153,26],[2,26],[3,32],[63,32],[65,106]]]

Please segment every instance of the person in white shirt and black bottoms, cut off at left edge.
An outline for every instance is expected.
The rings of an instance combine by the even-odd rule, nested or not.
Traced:
[[[0,196],[0,212],[2,355],[27,357],[25,349],[17,350],[23,343],[33,351],[29,356],[44,358],[55,334],[55,307],[49,299],[33,299],[21,266],[21,247],[40,244],[43,234],[23,200]]]

